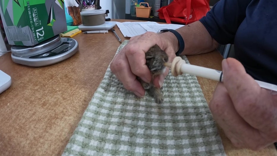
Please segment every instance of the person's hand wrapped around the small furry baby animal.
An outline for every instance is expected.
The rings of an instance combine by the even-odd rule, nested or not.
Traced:
[[[129,43],[120,50],[110,64],[111,71],[123,83],[124,87],[139,97],[144,96],[145,90],[136,77],[138,76],[148,83],[151,80],[150,71],[145,64],[145,53],[157,44],[168,54],[169,61],[172,61],[176,57],[173,46],[169,43],[170,37],[164,37],[166,34],[146,32],[145,34],[130,38]],[[169,68],[166,69],[163,75],[153,80],[156,87],[162,86],[168,72]]]

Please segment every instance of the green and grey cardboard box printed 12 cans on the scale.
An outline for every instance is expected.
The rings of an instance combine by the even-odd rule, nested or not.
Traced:
[[[67,30],[63,0],[0,0],[10,45],[34,46]]]

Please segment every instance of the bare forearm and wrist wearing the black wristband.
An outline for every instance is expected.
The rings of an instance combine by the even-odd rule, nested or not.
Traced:
[[[180,33],[185,42],[185,49],[182,55],[207,53],[213,51],[218,46],[218,43],[210,36],[207,29],[200,21],[183,26],[176,29],[176,31]],[[168,39],[169,44],[171,44],[175,52],[177,52],[179,46],[175,35],[171,32],[165,32],[161,35]]]

